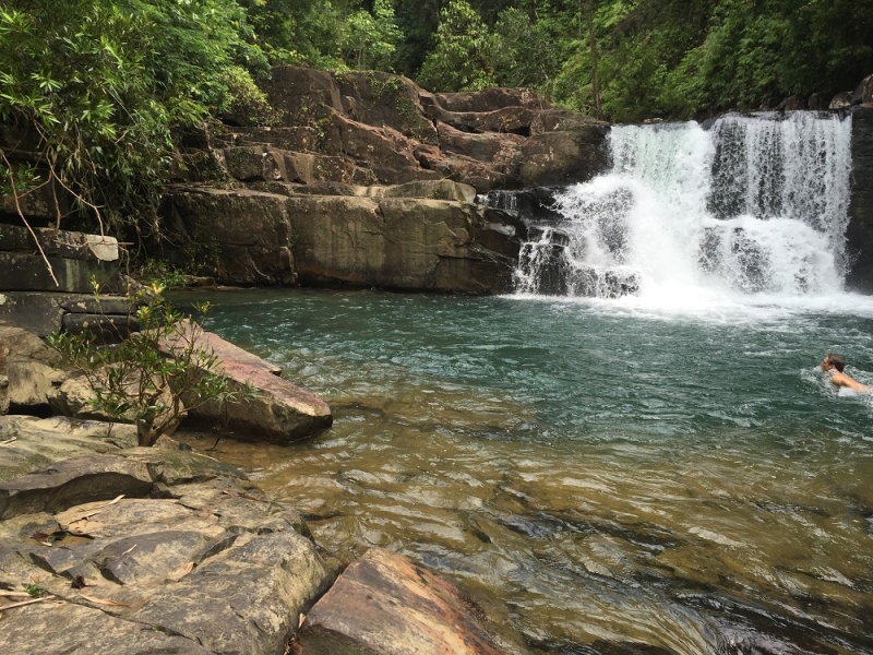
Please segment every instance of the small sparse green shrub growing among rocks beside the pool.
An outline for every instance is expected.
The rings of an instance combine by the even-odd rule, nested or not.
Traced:
[[[85,376],[94,394],[92,406],[132,420],[140,445],[146,446],[174,429],[186,408],[211,401],[239,402],[256,393],[250,384],[235,386],[201,343],[208,303],[195,307],[199,318],[186,318],[162,291],[152,285],[136,311],[140,331],[116,346],[97,347],[88,332],[48,337],[49,345]]]

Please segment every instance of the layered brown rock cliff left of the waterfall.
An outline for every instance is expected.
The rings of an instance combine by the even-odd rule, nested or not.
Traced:
[[[237,116],[188,135],[164,198],[163,253],[226,284],[506,291],[524,225],[476,194],[607,164],[606,123],[528,90],[438,95],[386,73],[282,67],[264,91],[279,124]]]

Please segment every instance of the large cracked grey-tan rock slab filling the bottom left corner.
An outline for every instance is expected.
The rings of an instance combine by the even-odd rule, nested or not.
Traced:
[[[56,462],[1,485],[0,507],[0,590],[52,596],[0,597],[0,653],[279,655],[333,579],[297,512],[190,452]]]

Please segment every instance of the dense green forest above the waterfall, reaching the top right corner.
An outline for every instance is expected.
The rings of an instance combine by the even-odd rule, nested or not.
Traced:
[[[534,86],[617,121],[772,107],[853,88],[873,71],[873,4],[851,0],[456,0],[417,81],[435,91]],[[433,10],[399,23],[426,32]],[[593,35],[588,29],[593,17]],[[428,17],[429,16],[429,17]],[[594,37],[594,43],[591,43]],[[426,40],[429,39],[429,40]],[[405,47],[405,46],[403,46]],[[402,47],[402,51],[403,51]]]

